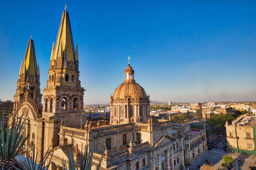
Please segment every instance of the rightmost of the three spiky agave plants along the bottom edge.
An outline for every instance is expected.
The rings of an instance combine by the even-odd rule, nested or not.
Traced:
[[[76,168],[75,163],[74,163],[74,157],[73,157],[73,154],[72,154],[72,150],[71,150],[71,147],[69,145],[69,153],[68,153],[69,169],[67,169],[66,162],[63,161],[62,170],[91,170],[91,168],[92,168],[92,156],[93,156],[94,147],[92,146],[92,150],[90,150],[90,152],[88,152],[88,145],[87,145],[87,146],[85,146],[84,150],[85,150],[84,155],[83,155],[83,150],[82,150],[82,153],[81,153],[80,167]],[[100,158],[100,163],[97,167],[97,170],[100,170],[100,164],[101,164],[101,161],[102,161],[102,157],[103,157],[103,154]]]

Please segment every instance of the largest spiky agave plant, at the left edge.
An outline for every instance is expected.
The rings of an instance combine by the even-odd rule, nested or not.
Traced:
[[[25,119],[22,121],[22,117],[23,115],[21,115],[19,121],[17,117],[17,121],[13,121],[10,126],[6,125],[4,117],[2,117],[0,120],[0,165],[3,165],[3,168],[9,169],[11,164],[18,165],[18,162],[15,160],[15,156],[21,154],[25,142],[28,139],[29,135],[23,136],[21,133],[26,120],[25,117]]]

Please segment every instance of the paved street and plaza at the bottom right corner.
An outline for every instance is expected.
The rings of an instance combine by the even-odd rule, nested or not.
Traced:
[[[200,164],[200,166],[202,166],[203,164],[205,164],[205,159],[207,159],[210,163],[212,163],[212,167],[215,170],[218,170],[218,168],[223,168],[221,166],[222,163],[224,163],[224,161],[222,160],[223,155],[226,155],[227,153],[225,151],[223,151],[222,148],[217,149],[212,149],[210,151],[208,151],[207,153],[205,153],[204,155],[202,155],[200,158],[198,158],[195,163],[193,163],[191,166],[186,166],[185,170],[187,170],[188,168],[190,168],[191,170],[198,170],[197,165]],[[249,166],[256,166],[256,156],[246,156],[246,155],[241,155],[238,153],[233,153],[231,154],[231,156],[236,159],[238,156],[239,157],[243,157],[243,160],[240,162],[238,161],[238,166],[239,166],[239,170],[249,170]],[[232,170],[236,169],[236,163],[234,162],[232,164]]]

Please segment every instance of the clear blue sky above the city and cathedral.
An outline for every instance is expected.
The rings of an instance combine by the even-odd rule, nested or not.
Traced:
[[[84,103],[106,103],[131,56],[135,80],[155,101],[244,101],[256,92],[256,1],[68,0]],[[33,32],[41,90],[64,0],[4,1],[0,99],[13,100]],[[43,93],[43,92],[42,92]]]

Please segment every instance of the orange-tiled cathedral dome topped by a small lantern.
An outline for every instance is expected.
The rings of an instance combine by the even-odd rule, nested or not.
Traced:
[[[125,69],[125,80],[124,82],[115,89],[113,99],[125,99],[125,98],[143,98],[147,99],[147,95],[143,87],[135,82],[134,70],[130,64]]]

